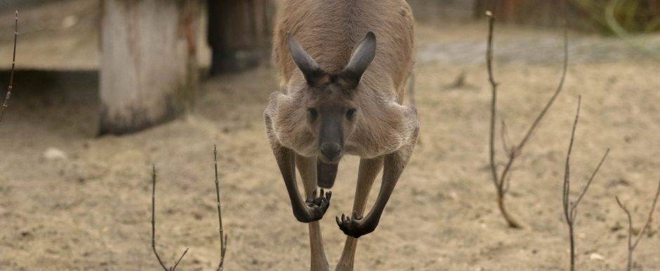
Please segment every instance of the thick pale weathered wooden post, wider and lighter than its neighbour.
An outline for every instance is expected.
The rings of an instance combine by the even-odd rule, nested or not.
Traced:
[[[100,134],[176,118],[197,89],[198,1],[103,1]]]

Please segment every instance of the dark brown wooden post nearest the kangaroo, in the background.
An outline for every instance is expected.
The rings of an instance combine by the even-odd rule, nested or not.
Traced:
[[[242,71],[268,60],[272,0],[207,0],[211,75]]]

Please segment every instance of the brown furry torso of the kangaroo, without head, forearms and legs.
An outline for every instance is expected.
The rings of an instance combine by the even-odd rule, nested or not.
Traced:
[[[348,63],[356,43],[376,34],[374,62],[362,76],[356,97],[359,118],[346,139],[346,153],[374,158],[400,148],[411,137],[414,109],[401,106],[414,64],[414,21],[404,0],[289,0],[275,28],[273,58],[282,76],[282,92],[271,96],[267,114],[283,146],[316,155],[317,135],[305,123],[312,95],[291,59],[288,33],[319,66],[336,73]]]

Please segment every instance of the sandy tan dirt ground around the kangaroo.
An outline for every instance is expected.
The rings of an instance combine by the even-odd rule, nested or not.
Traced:
[[[628,204],[639,227],[660,179],[660,62],[649,55],[660,50],[660,36],[621,41],[571,34],[565,90],[511,179],[508,206],[525,225],[513,230],[496,209],[487,168],[485,24],[427,22],[417,35],[421,141],[380,225],[360,238],[355,269],[567,270],[562,174],[582,95],[574,187],[583,186],[606,148],[612,153],[581,204],[578,270],[623,270],[627,224],[614,197]],[[6,62],[8,39],[2,41]],[[89,46],[95,44],[74,46],[94,52]],[[556,87],[561,48],[557,31],[498,28],[500,113],[514,141]],[[88,55],[72,60],[80,65],[74,69],[98,65],[93,61]],[[466,83],[454,88],[459,74]],[[7,73],[0,76],[4,85]],[[230,236],[225,270],[308,270],[307,226],[291,214],[263,125],[275,76],[261,67],[205,80],[197,109],[180,120],[124,137],[96,137],[93,69],[18,72],[0,126],[0,270],[158,270],[150,247],[152,163],[159,172],[161,255],[172,263],[189,247],[180,269],[211,270],[219,251],[213,144]],[[350,211],[357,162],[341,162],[322,220],[331,266],[345,239],[334,216]],[[370,202],[377,190],[378,184]],[[660,270],[660,211],[655,216],[635,252],[640,270]]]

